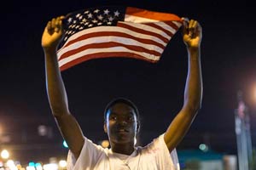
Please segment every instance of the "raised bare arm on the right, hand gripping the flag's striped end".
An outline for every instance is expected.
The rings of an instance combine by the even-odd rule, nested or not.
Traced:
[[[183,19],[183,42],[188,51],[188,75],[183,108],[167,128],[164,139],[170,152],[183,139],[201,108],[201,26],[196,20]]]

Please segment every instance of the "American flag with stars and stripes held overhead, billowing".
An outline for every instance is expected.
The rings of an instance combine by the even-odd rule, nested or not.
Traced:
[[[182,26],[176,14],[107,6],[67,14],[57,51],[61,71],[89,59],[127,57],[157,62]]]

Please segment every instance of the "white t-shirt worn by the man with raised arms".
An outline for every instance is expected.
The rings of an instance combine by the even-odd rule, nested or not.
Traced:
[[[164,134],[153,142],[136,147],[130,156],[114,153],[84,138],[78,160],[69,150],[67,170],[179,170],[176,150],[171,154],[164,141]]]

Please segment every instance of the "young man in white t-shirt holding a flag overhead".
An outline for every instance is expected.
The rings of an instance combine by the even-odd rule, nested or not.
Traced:
[[[183,42],[188,51],[188,76],[183,108],[172,120],[166,133],[144,147],[135,147],[139,114],[128,99],[114,99],[105,111],[104,131],[111,149],[103,149],[84,137],[76,119],[68,110],[67,94],[61,79],[56,49],[63,36],[64,17],[49,21],[42,37],[49,104],[63,138],[69,146],[67,169],[179,169],[175,148],[183,139],[201,108],[201,26],[196,20],[183,19]],[[170,155],[171,154],[171,155]]]

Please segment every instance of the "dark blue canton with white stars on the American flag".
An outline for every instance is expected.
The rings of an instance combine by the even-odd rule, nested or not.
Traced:
[[[116,26],[117,22],[124,18],[125,7],[119,6],[87,8],[67,14],[63,20],[65,36],[59,48],[78,31],[96,26]]]

